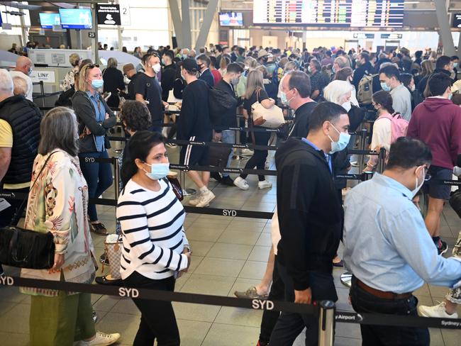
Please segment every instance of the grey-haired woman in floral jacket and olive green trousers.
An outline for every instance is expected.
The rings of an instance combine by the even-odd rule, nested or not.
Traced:
[[[94,251],[88,229],[87,182],[79,167],[77,118],[70,108],[49,111],[40,123],[40,145],[32,172],[25,228],[51,232],[51,269],[22,269],[21,277],[91,284]],[[43,169],[43,170],[42,170]],[[21,288],[30,294],[30,345],[111,345],[120,334],[96,333],[91,294]]]

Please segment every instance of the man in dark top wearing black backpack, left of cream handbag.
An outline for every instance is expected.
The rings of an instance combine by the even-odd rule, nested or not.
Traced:
[[[229,108],[226,113],[221,116],[221,128],[236,128],[237,127],[237,107],[242,104],[242,99],[237,99],[235,96],[235,86],[240,81],[240,76],[243,73],[243,68],[235,62],[232,62],[227,67],[227,72],[224,74],[223,79],[216,85],[217,89],[224,91],[230,98],[236,100],[235,107]],[[235,144],[235,131],[234,130],[221,130],[215,128],[215,140],[221,140],[223,143]],[[230,150],[227,166],[230,165],[232,160],[233,151]],[[230,179],[228,173],[223,173],[222,179],[218,173],[212,173],[211,177],[228,186],[235,186],[233,179]]]

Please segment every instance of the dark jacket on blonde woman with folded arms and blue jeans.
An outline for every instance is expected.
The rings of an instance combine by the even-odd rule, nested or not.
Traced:
[[[113,111],[111,111],[111,108],[107,106],[106,101],[104,101],[101,95],[99,95],[99,98],[104,108],[106,108],[106,113],[109,113],[109,118],[102,122],[96,121],[96,109],[89,99],[87,91],[75,91],[72,97],[72,107],[79,121],[79,135],[84,132],[85,127],[91,131],[91,135],[86,135],[79,140],[79,152],[97,151],[94,135],[104,135],[105,147],[111,147],[106,133],[109,128],[112,128],[116,124],[116,116],[113,114]]]

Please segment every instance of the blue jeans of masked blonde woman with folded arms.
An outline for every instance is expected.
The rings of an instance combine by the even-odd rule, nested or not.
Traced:
[[[79,154],[80,168],[88,184],[88,196],[90,199],[98,198],[112,185],[112,167],[110,163],[85,162],[85,157],[108,158],[109,155],[106,150]],[[91,222],[98,220],[95,204],[88,204],[88,216]]]

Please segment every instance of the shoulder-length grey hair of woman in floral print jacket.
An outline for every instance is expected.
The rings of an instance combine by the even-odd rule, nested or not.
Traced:
[[[38,153],[47,155],[57,148],[75,157],[79,153],[77,116],[67,107],[55,107],[45,114],[40,123]]]

